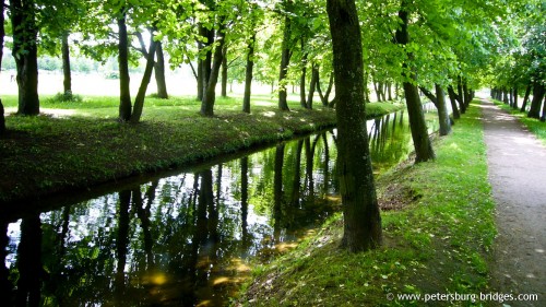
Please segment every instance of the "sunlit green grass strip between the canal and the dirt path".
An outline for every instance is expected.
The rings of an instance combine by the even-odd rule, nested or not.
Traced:
[[[453,133],[436,142],[437,161],[401,165],[378,179],[380,203],[404,206],[382,212],[383,247],[341,250],[343,224],[336,215],[318,235],[257,269],[238,304],[423,306],[396,295],[486,291],[496,228],[479,116],[473,104]],[[389,300],[389,294],[395,298]]]

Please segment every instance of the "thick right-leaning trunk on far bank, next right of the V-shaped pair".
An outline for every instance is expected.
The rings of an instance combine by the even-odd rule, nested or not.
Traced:
[[[225,44],[225,32],[224,32],[224,20],[218,22],[218,32],[216,45],[214,49],[214,62],[211,69],[211,75],[209,82],[205,84],[203,102],[201,103],[201,115],[202,116],[214,116],[214,103],[216,101],[216,83],[218,82],[219,67],[222,66],[222,59],[224,58],[223,49]]]

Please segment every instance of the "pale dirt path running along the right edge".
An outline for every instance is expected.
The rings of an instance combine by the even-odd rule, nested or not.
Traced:
[[[538,294],[538,302],[509,306],[546,306],[546,146],[490,102],[482,107],[499,231],[492,291]]]

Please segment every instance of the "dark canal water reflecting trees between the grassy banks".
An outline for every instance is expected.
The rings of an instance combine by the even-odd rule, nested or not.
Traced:
[[[406,157],[406,117],[368,121],[375,172]],[[288,250],[340,210],[335,158],[335,130],[324,131],[0,221],[7,235],[0,236],[1,299],[226,305],[249,276],[250,260],[269,261]]]

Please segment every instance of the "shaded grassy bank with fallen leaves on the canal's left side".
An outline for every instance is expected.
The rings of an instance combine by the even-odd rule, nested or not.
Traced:
[[[20,202],[67,190],[165,170],[289,139],[335,125],[335,111],[278,111],[269,95],[254,96],[252,114],[244,114],[240,97],[218,98],[216,116],[203,118],[192,97],[147,98],[142,122],[117,122],[117,97],[83,97],[60,102],[41,97],[43,115],[8,116],[9,132],[0,139],[0,203]],[[8,111],[16,96],[4,96]],[[400,105],[373,103],[379,116]]]

